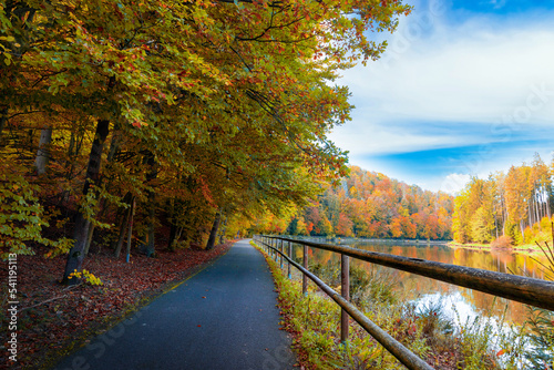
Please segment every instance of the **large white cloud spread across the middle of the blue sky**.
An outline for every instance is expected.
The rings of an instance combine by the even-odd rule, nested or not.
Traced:
[[[382,60],[345,73],[340,83],[358,109],[331,138],[352,154],[406,153],[491,141],[460,123],[551,124],[553,24],[484,17],[455,24],[431,11],[409,17]],[[452,130],[413,130],[427,122],[450,122]]]

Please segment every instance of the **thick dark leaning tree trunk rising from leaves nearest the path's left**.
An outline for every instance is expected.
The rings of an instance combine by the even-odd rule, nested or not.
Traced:
[[[110,121],[99,120],[96,123],[96,132],[94,141],[92,142],[91,154],[89,156],[89,165],[86,167],[86,175],[83,186],[83,196],[86,196],[91,187],[91,183],[96,183],[100,179],[100,166],[102,162],[102,151],[104,150],[104,142],[110,133]],[[79,209],[75,226],[73,229],[73,239],[75,240],[73,247],[68,255],[65,263],[65,270],[62,281],[64,284],[74,285],[79,282],[75,277],[70,278],[70,275],[75,270],[81,270],[84,259],[84,249],[86,237],[89,235],[90,224],[84,218],[84,209]]]

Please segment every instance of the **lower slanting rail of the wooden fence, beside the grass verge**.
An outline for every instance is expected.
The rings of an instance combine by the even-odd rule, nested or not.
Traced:
[[[287,240],[287,239],[284,239]],[[373,321],[368,319],[363,312],[361,312],[356,306],[350,304],[347,299],[342,298],[340,294],[335,291],[327,284],[321,281],[316,275],[311,274],[308,269],[304,268],[278,248],[271,245],[256,239],[256,241],[271,248],[274,251],[278,253],[281,258],[287,259],[287,261],[299,269],[304,276],[309,277],[321,290],[324,290],[332,300],[337,302],[345,311],[350,315],[367,332],[371,335],[382,347],[384,347],[392,356],[394,356],[400,362],[402,362],[408,369],[413,370],[432,370],[433,368],[429,366],[425,361],[416,356],[412,351],[406,348],[401,342],[392,338],[387,331],[379,328]]]

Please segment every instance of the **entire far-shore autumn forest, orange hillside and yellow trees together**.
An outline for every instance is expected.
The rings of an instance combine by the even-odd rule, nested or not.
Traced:
[[[266,217],[268,233],[451,240],[511,246],[550,241],[554,162],[535,155],[507,173],[473,177],[456,195],[423,191],[388,176],[350,166],[349,176],[328,185],[316,205],[283,219]]]

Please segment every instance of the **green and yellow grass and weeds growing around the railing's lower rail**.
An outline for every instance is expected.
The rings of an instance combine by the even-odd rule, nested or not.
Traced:
[[[253,245],[255,245],[253,243]],[[294,349],[306,369],[404,369],[355,321],[349,340],[340,342],[340,309],[315,285],[301,294],[298,279],[288,279],[260,248],[274,275],[284,316],[281,325],[294,336]],[[311,265],[310,270],[331,287],[340,278],[337,265]],[[351,269],[352,301],[381,329],[435,369],[519,369],[525,342],[522,329],[496,332],[484,318],[455,328],[441,301],[417,307],[396,290],[392,275],[381,269]],[[460,322],[461,320],[459,320]]]

